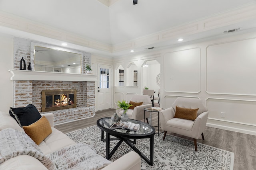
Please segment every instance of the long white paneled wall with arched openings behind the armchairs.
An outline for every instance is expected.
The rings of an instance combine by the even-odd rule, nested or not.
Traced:
[[[256,32],[232,35],[121,57],[114,65],[154,56],[161,64],[161,107],[170,107],[177,97],[201,98],[209,109],[208,126],[256,135]],[[116,86],[115,97],[130,98],[140,88]]]

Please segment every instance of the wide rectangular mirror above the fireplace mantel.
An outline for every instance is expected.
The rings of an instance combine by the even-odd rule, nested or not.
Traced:
[[[82,52],[50,45],[33,47],[36,71],[81,74]]]

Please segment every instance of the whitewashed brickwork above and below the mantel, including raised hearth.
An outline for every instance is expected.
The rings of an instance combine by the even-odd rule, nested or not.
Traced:
[[[34,70],[34,49],[31,49],[31,42],[32,41],[27,39],[14,38],[14,69],[20,69],[20,60],[23,57],[26,61],[26,70],[29,62],[31,63],[32,70]],[[86,52],[83,53],[81,73],[85,74],[85,66],[87,63],[91,62],[91,54]],[[36,106],[39,112],[42,110],[42,90],[76,89],[77,107],[60,111],[51,111],[54,113],[54,124],[74,121],[95,114],[95,82],[14,80],[13,89],[14,107],[24,107],[31,103]]]

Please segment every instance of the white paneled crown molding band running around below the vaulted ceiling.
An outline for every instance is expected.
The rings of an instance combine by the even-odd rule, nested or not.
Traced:
[[[103,4],[112,5],[118,0],[98,0]],[[114,45],[94,41],[81,35],[76,35],[71,32],[63,31],[50,25],[44,25],[42,23],[28,20],[20,16],[15,16],[6,12],[0,11],[0,26],[11,28],[14,30],[23,31],[26,33],[32,33],[43,37],[48,37],[67,43],[73,43],[90,49],[106,52],[109,55],[114,55],[117,52],[127,51],[131,48],[144,48],[149,45],[157,43],[177,43],[177,37],[184,37],[186,35],[195,35],[196,33],[203,33],[204,31],[221,28],[224,26],[232,25],[235,23],[242,23],[242,21],[255,21],[256,20],[256,3],[252,3],[248,6],[243,6],[230,10],[228,12],[222,12],[214,16],[204,18],[202,20],[194,21],[172,27],[151,35],[132,39],[123,43]]]

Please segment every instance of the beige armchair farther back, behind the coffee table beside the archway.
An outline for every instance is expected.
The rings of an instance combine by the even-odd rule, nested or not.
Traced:
[[[128,109],[126,114],[128,115],[129,119],[135,119],[138,121],[141,121],[144,119],[144,109],[147,107],[151,107],[151,100],[150,96],[146,95],[134,95],[132,96],[131,100],[132,102],[143,102],[142,105],[134,107],[134,109]],[[128,102],[130,102],[128,101]],[[121,116],[124,111],[122,109],[118,109],[118,115]],[[146,111],[145,113],[145,119],[148,123],[148,117],[150,117],[150,112]]]

